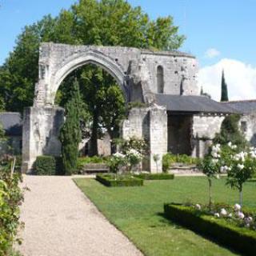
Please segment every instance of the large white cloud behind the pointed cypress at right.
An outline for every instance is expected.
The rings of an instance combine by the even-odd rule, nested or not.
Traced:
[[[221,79],[224,70],[229,99],[256,99],[256,66],[238,60],[223,58],[212,66],[203,67],[198,73],[198,85],[215,100],[221,97]]]

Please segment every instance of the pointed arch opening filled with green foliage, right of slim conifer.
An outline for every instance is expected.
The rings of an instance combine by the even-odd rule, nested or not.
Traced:
[[[78,79],[82,99],[80,155],[110,155],[114,150],[112,142],[119,137],[119,125],[125,118],[126,91],[122,90],[118,75],[98,63],[90,61],[70,70],[62,77],[54,104],[66,106],[74,79]]]

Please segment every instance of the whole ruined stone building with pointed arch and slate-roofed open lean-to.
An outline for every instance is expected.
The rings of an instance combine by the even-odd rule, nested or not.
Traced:
[[[150,156],[146,170],[156,172],[167,150],[202,156],[230,106],[200,96],[198,63],[178,51],[150,51],[114,46],[70,46],[42,43],[34,106],[24,111],[23,171],[30,171],[41,154],[59,155],[59,129],[64,111],[54,106],[58,87],[68,74],[88,63],[109,72],[122,89],[126,104],[144,102],[130,110],[122,123],[122,137],[145,138]],[[159,171],[159,170],[158,170]]]

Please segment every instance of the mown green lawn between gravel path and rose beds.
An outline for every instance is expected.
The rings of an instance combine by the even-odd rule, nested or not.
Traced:
[[[154,256],[238,255],[162,217],[164,202],[207,202],[203,177],[145,181],[142,187],[107,188],[94,179],[74,180],[99,210],[142,252]],[[238,202],[238,192],[214,180],[214,201]],[[256,210],[256,183],[247,182],[244,204]]]

